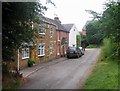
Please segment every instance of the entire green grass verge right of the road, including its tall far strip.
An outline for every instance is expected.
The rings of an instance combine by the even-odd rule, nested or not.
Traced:
[[[118,60],[112,58],[112,53],[111,40],[104,39],[98,62],[83,89],[118,89]]]

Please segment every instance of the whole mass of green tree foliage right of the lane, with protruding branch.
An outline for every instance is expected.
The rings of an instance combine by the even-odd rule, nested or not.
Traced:
[[[120,56],[120,2],[110,1],[105,4],[105,10],[100,17],[94,17],[91,23],[87,25],[87,40],[90,43],[99,41],[103,38],[109,38],[112,41],[113,55],[116,58]],[[95,14],[95,12],[89,12]],[[99,14],[100,15],[100,14]]]

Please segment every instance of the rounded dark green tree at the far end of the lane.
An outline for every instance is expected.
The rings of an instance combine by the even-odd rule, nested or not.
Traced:
[[[100,44],[103,40],[103,31],[99,29],[99,21],[98,20],[92,20],[87,26],[86,26],[86,40],[90,44]]]

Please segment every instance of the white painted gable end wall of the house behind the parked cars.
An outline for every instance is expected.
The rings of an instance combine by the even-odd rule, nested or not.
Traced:
[[[76,35],[78,34],[79,32],[78,32],[77,27],[73,25],[69,33],[69,46],[73,46],[73,45],[76,46]]]

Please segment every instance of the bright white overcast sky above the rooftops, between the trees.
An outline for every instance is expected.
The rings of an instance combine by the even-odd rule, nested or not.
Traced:
[[[81,31],[87,20],[91,20],[91,14],[85,10],[93,10],[98,13],[103,11],[106,0],[52,0],[56,7],[47,4],[48,10],[45,16],[54,19],[57,15],[62,24],[74,23]],[[44,5],[46,0],[42,1]]]

